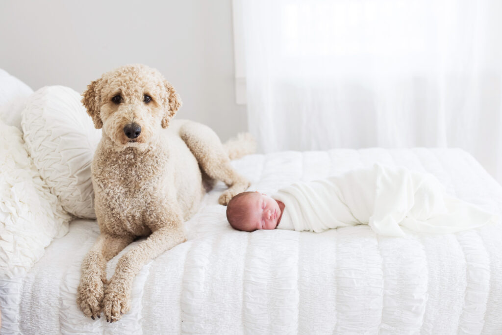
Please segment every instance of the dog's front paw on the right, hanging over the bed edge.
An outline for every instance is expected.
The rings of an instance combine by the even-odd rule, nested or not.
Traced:
[[[131,309],[131,291],[117,281],[111,281],[106,288],[103,301],[103,312],[106,322],[118,321],[122,314]]]

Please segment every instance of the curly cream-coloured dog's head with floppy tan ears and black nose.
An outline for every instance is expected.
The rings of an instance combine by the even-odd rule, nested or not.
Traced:
[[[134,64],[106,72],[83,94],[96,129],[121,147],[149,143],[181,106],[173,86],[156,69]],[[103,134],[104,135],[104,134]]]

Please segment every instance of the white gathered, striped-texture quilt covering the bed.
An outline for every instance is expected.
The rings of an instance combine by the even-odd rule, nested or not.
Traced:
[[[502,213],[502,187],[460,150],[282,152],[234,165],[252,190],[271,194],[375,162],[430,172],[447,193]],[[367,226],[244,233],[217,204],[223,189],[187,222],[186,243],[142,269],[132,309],[116,323],[85,318],[76,305],[80,263],[98,228],[73,221],[24,278],[0,282],[2,333],[502,333],[500,222],[406,238]]]

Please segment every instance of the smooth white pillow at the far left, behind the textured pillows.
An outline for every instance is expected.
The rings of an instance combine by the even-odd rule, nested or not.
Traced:
[[[32,93],[30,86],[0,69],[0,119],[21,129],[21,112]]]

